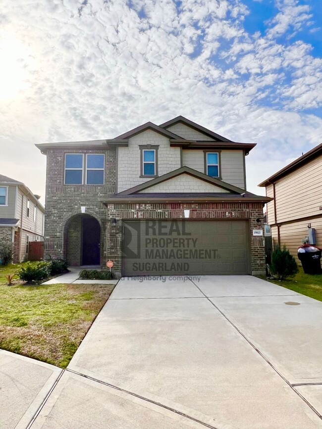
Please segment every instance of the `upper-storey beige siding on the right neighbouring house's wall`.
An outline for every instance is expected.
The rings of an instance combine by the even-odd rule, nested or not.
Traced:
[[[277,222],[321,215],[322,156],[275,184]]]

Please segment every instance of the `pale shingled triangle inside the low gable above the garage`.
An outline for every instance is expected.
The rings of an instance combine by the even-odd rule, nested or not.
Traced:
[[[188,174],[181,174],[173,179],[166,180],[140,193],[149,192],[228,192],[211,183],[204,182]]]

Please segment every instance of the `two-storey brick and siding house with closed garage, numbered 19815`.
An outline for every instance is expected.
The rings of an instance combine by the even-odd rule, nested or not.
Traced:
[[[110,259],[118,275],[265,272],[253,230],[270,198],[245,180],[255,144],[178,116],[114,139],[36,146],[47,155],[45,256]]]

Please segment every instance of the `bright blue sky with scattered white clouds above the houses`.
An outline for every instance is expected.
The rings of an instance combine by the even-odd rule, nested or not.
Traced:
[[[322,142],[317,0],[2,0],[0,173],[45,194],[34,143],[183,115],[258,143],[248,190]]]

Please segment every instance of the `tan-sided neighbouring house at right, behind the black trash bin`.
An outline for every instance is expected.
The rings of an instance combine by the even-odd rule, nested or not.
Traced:
[[[268,225],[273,244],[284,244],[296,256],[308,237],[308,227],[316,230],[316,244],[322,247],[322,144],[288,164],[259,186],[266,187]]]

